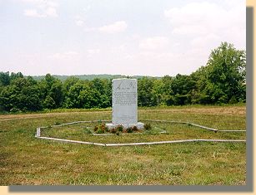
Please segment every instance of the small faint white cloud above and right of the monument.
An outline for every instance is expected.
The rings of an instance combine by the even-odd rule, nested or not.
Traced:
[[[139,48],[143,50],[163,49],[169,44],[168,37],[148,37],[139,42]]]

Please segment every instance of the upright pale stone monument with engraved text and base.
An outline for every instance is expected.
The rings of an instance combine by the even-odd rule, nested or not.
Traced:
[[[124,128],[136,126],[143,129],[144,124],[138,122],[138,93],[136,79],[112,80],[112,124],[106,124],[113,129],[118,124]]]

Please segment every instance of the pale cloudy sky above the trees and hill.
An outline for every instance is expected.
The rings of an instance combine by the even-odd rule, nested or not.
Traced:
[[[0,0],[0,71],[175,76],[228,41],[245,50],[244,0]]]

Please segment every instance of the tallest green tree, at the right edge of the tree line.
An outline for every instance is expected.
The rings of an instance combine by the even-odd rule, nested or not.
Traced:
[[[222,42],[214,49],[203,69],[199,90],[200,103],[235,103],[246,97],[246,55],[233,44]]]

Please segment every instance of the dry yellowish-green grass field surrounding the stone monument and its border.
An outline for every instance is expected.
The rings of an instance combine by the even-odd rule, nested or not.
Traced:
[[[36,139],[39,126],[111,119],[110,110],[65,110],[0,115],[0,184],[245,185],[246,144],[183,143],[101,147]],[[245,105],[178,106],[138,110],[139,120],[191,122],[216,129],[246,127]],[[128,143],[176,139],[246,139],[246,133],[210,132],[186,124],[150,123],[143,134],[93,136],[94,124],[43,129],[43,136]],[[159,134],[158,129],[167,134]]]

